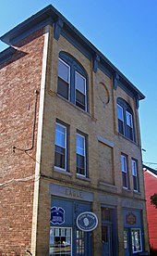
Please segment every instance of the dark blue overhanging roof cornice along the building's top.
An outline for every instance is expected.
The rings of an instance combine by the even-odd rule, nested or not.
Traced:
[[[122,83],[126,83],[128,87],[131,87],[131,89],[134,91],[134,94],[138,96],[138,99],[144,99],[145,96],[139,91],[139,89],[130,81],[127,80],[127,77],[118,70],[108,58],[105,58],[103,56],[103,53],[101,53],[94,45],[91,44],[91,42],[82,34],[80,33],[59,11],[57,11],[54,6],[49,5],[44,7],[41,11],[37,12],[36,14],[32,15],[29,19],[26,19],[25,21],[21,22],[10,30],[9,32],[6,32],[4,35],[0,37],[0,40],[6,45],[13,45],[15,42],[18,41],[18,37],[23,33],[27,35],[28,31],[32,31],[32,28],[37,27],[43,27],[46,24],[53,24],[57,19],[61,19],[63,21],[63,29],[67,32],[70,32],[70,34],[76,38],[79,37],[79,41],[82,45],[85,46],[86,49],[91,53],[91,56],[98,55],[100,57],[100,62],[104,63],[105,66],[109,68],[111,73],[114,75],[117,73],[122,80]],[[17,40],[17,41],[16,41]]]

